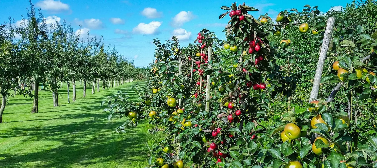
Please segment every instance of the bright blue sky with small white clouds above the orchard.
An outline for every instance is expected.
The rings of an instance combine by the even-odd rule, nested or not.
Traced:
[[[92,36],[104,36],[105,43],[112,44],[124,57],[133,60],[136,66],[147,66],[153,57],[152,40],[168,40],[173,35],[181,39],[181,46],[193,43],[197,33],[207,28],[224,38],[222,30],[228,17],[219,20],[224,12],[221,6],[230,6],[234,1],[216,0],[33,0],[36,8],[41,8],[46,18],[66,20],[75,30],[81,24],[90,30]],[[312,6],[327,12],[339,9],[351,0],[317,0]],[[243,3],[243,2],[239,2]],[[260,11],[250,12],[258,16],[268,13],[272,18],[279,11],[296,8],[301,11],[308,1],[259,0],[245,1]],[[1,0],[0,23],[13,17],[21,20],[30,7],[28,0]],[[83,31],[85,32],[85,31]]]

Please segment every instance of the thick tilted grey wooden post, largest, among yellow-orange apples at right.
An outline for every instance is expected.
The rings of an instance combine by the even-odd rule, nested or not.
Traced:
[[[316,75],[314,76],[313,88],[310,93],[309,102],[318,98],[319,85],[322,78],[323,65],[325,64],[327,50],[329,48],[330,41],[333,35],[333,29],[335,24],[335,18],[329,17],[325,30],[325,36],[323,37],[323,43],[319,54],[317,63]]]

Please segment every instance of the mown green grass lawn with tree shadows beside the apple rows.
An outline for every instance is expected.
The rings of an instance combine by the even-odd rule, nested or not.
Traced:
[[[134,81],[116,88],[100,90],[83,98],[83,86],[77,82],[76,102],[67,103],[67,86],[59,90],[59,107],[53,107],[52,93],[39,92],[39,113],[31,114],[32,99],[20,95],[9,98],[0,124],[1,168],[144,168],[147,166],[146,144],[158,143],[163,135],[149,134],[149,124],[115,133],[123,119],[106,119],[100,102],[118,90],[130,99]],[[72,88],[72,87],[71,87]]]

